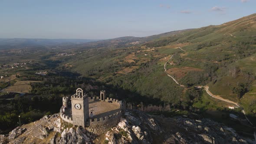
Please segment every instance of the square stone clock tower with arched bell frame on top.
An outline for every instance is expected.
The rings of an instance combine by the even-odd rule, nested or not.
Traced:
[[[77,88],[71,96],[72,121],[74,125],[85,126],[89,119],[89,99],[82,88]]]

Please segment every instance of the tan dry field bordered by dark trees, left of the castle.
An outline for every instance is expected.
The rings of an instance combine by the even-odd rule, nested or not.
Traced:
[[[14,85],[11,85],[4,89],[5,92],[24,92],[29,93],[31,86],[30,83],[41,81],[18,81]]]

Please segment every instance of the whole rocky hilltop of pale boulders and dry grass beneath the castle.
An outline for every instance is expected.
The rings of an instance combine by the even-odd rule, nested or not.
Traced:
[[[247,144],[252,143],[232,128],[209,119],[165,118],[138,110],[126,111],[118,125],[105,134],[95,135],[59,118],[44,116],[0,136],[1,144]]]

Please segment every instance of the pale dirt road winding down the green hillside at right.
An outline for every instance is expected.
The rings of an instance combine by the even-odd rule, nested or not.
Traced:
[[[181,47],[179,47],[179,48],[181,49]],[[181,49],[181,50],[183,50],[183,49]],[[184,50],[183,50],[183,51],[184,51]],[[184,52],[185,52],[185,51],[184,51]],[[171,58],[172,58],[172,56],[173,56],[173,55],[171,55]],[[171,58],[168,59],[167,62],[169,62],[169,60],[171,60]],[[169,74],[166,72],[166,71],[167,71],[167,69],[166,69],[166,64],[167,64],[167,62],[165,62],[165,64],[164,64],[164,72],[166,73],[166,75],[169,76],[169,77],[171,77],[171,78],[174,80],[174,82],[177,83],[177,85],[179,85],[179,86],[181,86],[181,87],[185,87],[184,85],[179,84],[179,83],[177,82],[177,80],[174,79],[174,77],[172,77],[171,75],[169,75]],[[216,98],[216,99],[219,99],[219,100],[221,100],[221,101],[225,101],[225,102],[228,102],[228,103],[232,103],[232,104],[236,105],[237,107],[242,108],[240,105],[238,105],[238,104],[237,104],[236,102],[234,102],[234,101],[230,101],[230,100],[228,100],[228,99],[224,99],[224,98],[222,98],[222,97],[220,97],[220,96],[218,96],[218,95],[213,95],[213,93],[211,93],[211,92],[209,91],[209,86],[207,86],[207,85],[206,85],[206,86],[201,86],[201,85],[199,85],[199,86],[195,86],[195,88],[205,88],[205,91],[206,91],[207,94],[210,95],[211,97]],[[242,113],[243,113],[243,115],[245,116],[246,120],[253,126],[253,124],[251,123],[251,121],[249,121],[249,119],[246,117],[246,113],[245,113],[245,111],[243,110],[243,108],[242,108]],[[253,136],[254,136],[254,139],[255,139],[254,143],[256,144],[256,131],[254,131]]]

